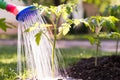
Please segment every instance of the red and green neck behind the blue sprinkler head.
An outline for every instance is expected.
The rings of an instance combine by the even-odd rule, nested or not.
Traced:
[[[13,13],[14,15],[18,14],[18,9],[15,5],[13,4],[8,4],[7,2],[5,2],[4,0],[0,0],[0,8],[1,9],[5,9],[10,13]]]

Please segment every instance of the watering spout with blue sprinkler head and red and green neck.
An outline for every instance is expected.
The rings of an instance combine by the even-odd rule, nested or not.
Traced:
[[[10,13],[13,13],[16,16],[16,19],[18,21],[24,21],[26,19],[25,13],[28,15],[33,15],[34,13],[36,13],[35,6],[23,7],[22,10],[20,10],[18,6],[9,4],[5,2],[4,0],[0,0],[0,8],[7,10]]]

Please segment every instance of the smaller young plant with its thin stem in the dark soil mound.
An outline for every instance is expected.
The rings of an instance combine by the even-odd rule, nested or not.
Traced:
[[[99,55],[99,47],[100,47],[100,37],[101,35],[104,35],[103,32],[101,32],[103,27],[115,27],[115,22],[118,21],[117,18],[113,16],[109,17],[102,17],[102,16],[92,16],[86,19],[86,21],[89,23],[89,28],[92,32],[95,33],[95,36],[88,37],[91,44],[96,45],[96,55],[95,55],[95,66],[97,66],[97,58]],[[104,32],[105,33],[105,32]]]

